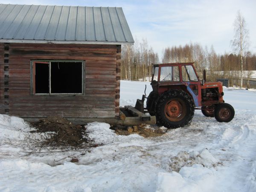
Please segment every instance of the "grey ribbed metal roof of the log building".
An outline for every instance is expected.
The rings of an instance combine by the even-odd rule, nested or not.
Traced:
[[[0,42],[134,43],[121,7],[0,4]]]

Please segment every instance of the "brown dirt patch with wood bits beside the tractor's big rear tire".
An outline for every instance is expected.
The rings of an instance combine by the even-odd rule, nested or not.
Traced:
[[[130,135],[130,134],[139,134],[142,137],[159,137],[166,133],[166,130],[163,130],[161,128],[148,128],[147,125],[140,125],[131,127],[133,131],[129,130],[127,127],[115,127],[111,128],[115,130],[115,133],[117,135]]]

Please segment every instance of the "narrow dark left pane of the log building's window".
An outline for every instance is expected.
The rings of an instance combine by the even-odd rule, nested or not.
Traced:
[[[49,64],[35,63],[35,93],[49,93]]]

